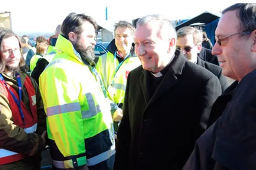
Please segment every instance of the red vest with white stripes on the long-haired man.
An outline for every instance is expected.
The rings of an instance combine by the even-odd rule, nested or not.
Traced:
[[[29,105],[30,105],[30,110],[32,112],[32,115],[29,113],[29,111],[26,108],[26,105],[24,104],[23,101],[21,101],[21,109],[24,114],[24,120],[25,120],[25,127],[23,126],[23,121],[21,118],[21,115],[19,113],[19,108],[16,105],[13,97],[11,96],[10,91],[6,88],[6,86],[3,84],[2,81],[0,81],[0,86],[2,86],[5,96],[8,98],[8,101],[11,106],[11,112],[12,112],[12,117],[13,117],[13,123],[21,128],[24,128],[24,131],[27,133],[33,133],[37,130],[37,104],[36,104],[36,95],[35,95],[35,89],[34,86],[29,78],[29,76],[26,76],[26,79],[24,81],[24,87],[27,90],[27,93],[29,95]],[[18,93],[17,91],[8,85],[10,90],[14,93],[16,98],[18,98]],[[24,88],[22,87],[22,89]],[[15,153],[13,151],[8,151],[5,149],[0,149],[0,165],[3,164],[8,164],[11,162],[19,161],[23,159],[25,155]]]

